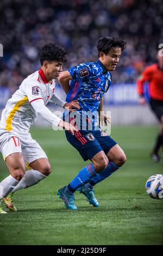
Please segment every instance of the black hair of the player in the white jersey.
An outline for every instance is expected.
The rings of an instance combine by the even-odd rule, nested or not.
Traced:
[[[55,43],[49,43],[43,45],[39,52],[39,59],[41,66],[45,60],[52,62],[53,60],[65,63],[66,62],[66,51]]]

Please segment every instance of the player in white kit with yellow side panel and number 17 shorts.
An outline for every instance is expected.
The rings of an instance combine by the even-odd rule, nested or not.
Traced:
[[[8,100],[0,121],[0,151],[10,175],[0,182],[0,214],[5,214],[2,202],[11,211],[16,211],[13,193],[21,188],[37,184],[51,173],[45,152],[32,139],[29,129],[38,114],[54,126],[70,130],[76,128],[61,120],[46,107],[49,101],[70,111],[80,108],[77,101],[67,103],[54,94],[55,78],[62,71],[66,52],[56,44],[41,48],[41,68],[23,80],[21,86]],[[29,170],[26,171],[26,166]]]

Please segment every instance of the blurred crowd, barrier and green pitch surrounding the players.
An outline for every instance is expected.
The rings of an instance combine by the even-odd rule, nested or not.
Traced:
[[[111,135],[126,152],[127,163],[97,186],[101,208],[92,208],[77,194],[78,213],[67,212],[57,190],[85,163],[63,132],[34,127],[33,138],[46,151],[54,170],[49,179],[16,194],[18,212],[1,216],[0,244],[163,244],[162,202],[149,198],[145,191],[147,178],[162,172],[162,162],[149,159],[157,121],[148,106],[138,105],[136,93],[137,77],[156,61],[163,43],[161,0],[1,0],[0,113],[22,80],[40,68],[38,52],[43,44],[55,41],[66,48],[66,70],[96,61],[98,39],[114,35],[128,44],[112,72],[104,107],[111,111]],[[56,92],[65,99],[59,84]],[[40,124],[48,126],[38,119]],[[2,156],[0,164],[2,179],[7,176]]]

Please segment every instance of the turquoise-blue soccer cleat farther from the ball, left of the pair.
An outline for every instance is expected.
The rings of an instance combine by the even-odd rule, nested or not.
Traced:
[[[64,201],[66,207],[68,209],[76,210],[78,209],[77,206],[74,204],[74,195],[66,194],[64,193],[65,187],[60,188],[60,190],[57,192],[59,198]]]

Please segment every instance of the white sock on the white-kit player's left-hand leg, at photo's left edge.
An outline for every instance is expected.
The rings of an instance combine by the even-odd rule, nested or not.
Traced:
[[[11,175],[2,180],[0,183],[0,199],[7,197],[13,188],[15,188],[19,183],[20,181],[16,180]]]

